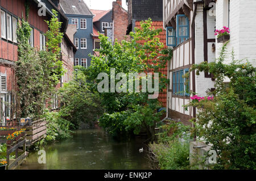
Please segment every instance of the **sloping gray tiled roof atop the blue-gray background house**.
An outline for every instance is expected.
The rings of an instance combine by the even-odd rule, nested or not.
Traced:
[[[83,0],[60,0],[65,14],[93,15]]]

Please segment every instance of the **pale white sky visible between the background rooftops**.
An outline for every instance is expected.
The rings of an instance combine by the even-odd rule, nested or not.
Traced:
[[[84,0],[86,5],[93,10],[110,10],[115,0]],[[122,0],[122,6],[127,10],[126,0]]]

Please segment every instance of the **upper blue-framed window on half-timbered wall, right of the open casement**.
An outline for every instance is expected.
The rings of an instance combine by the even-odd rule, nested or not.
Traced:
[[[177,44],[182,43],[189,37],[188,17],[183,14],[177,15]]]

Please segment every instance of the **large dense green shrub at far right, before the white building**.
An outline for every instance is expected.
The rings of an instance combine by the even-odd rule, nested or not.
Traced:
[[[197,114],[196,132],[218,154],[217,169],[255,169],[256,150],[256,77],[249,62],[234,59],[224,64],[226,44],[217,62],[193,65],[192,70],[209,71],[216,78],[213,100],[192,102]],[[230,79],[225,86],[224,78]],[[203,108],[202,108],[203,107]]]

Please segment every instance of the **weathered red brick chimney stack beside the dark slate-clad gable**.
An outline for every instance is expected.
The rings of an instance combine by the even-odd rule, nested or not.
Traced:
[[[126,30],[128,26],[128,14],[125,9],[123,9],[119,2],[113,2],[113,22],[114,22],[114,40],[117,39],[119,43],[125,40]],[[122,3],[122,2],[121,2]]]

